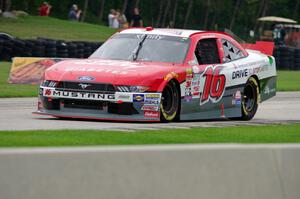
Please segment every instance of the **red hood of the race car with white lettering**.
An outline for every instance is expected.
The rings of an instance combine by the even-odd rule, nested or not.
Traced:
[[[102,59],[67,60],[48,68],[45,72],[45,79],[80,81],[79,78],[84,76],[92,77],[91,79],[95,83],[148,86],[163,79],[168,73],[178,70],[183,70],[182,65],[161,62]]]

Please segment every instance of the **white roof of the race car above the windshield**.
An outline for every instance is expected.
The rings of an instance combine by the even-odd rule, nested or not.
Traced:
[[[147,30],[148,29],[148,30]],[[169,28],[129,28],[122,30],[120,33],[126,34],[153,34],[153,35],[166,35],[176,37],[190,37],[193,34],[201,33],[201,30],[187,30],[187,29],[169,29]]]

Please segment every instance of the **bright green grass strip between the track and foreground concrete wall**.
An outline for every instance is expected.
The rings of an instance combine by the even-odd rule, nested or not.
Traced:
[[[300,124],[161,131],[0,131],[0,147],[190,143],[299,143]]]

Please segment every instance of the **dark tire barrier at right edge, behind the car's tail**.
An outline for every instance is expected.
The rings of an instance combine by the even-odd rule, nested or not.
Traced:
[[[276,46],[273,56],[276,59],[277,69],[300,70],[300,48]]]

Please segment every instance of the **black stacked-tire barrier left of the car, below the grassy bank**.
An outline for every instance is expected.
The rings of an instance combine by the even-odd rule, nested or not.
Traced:
[[[0,61],[11,61],[13,57],[87,58],[101,45],[48,38],[22,40],[0,33]]]

